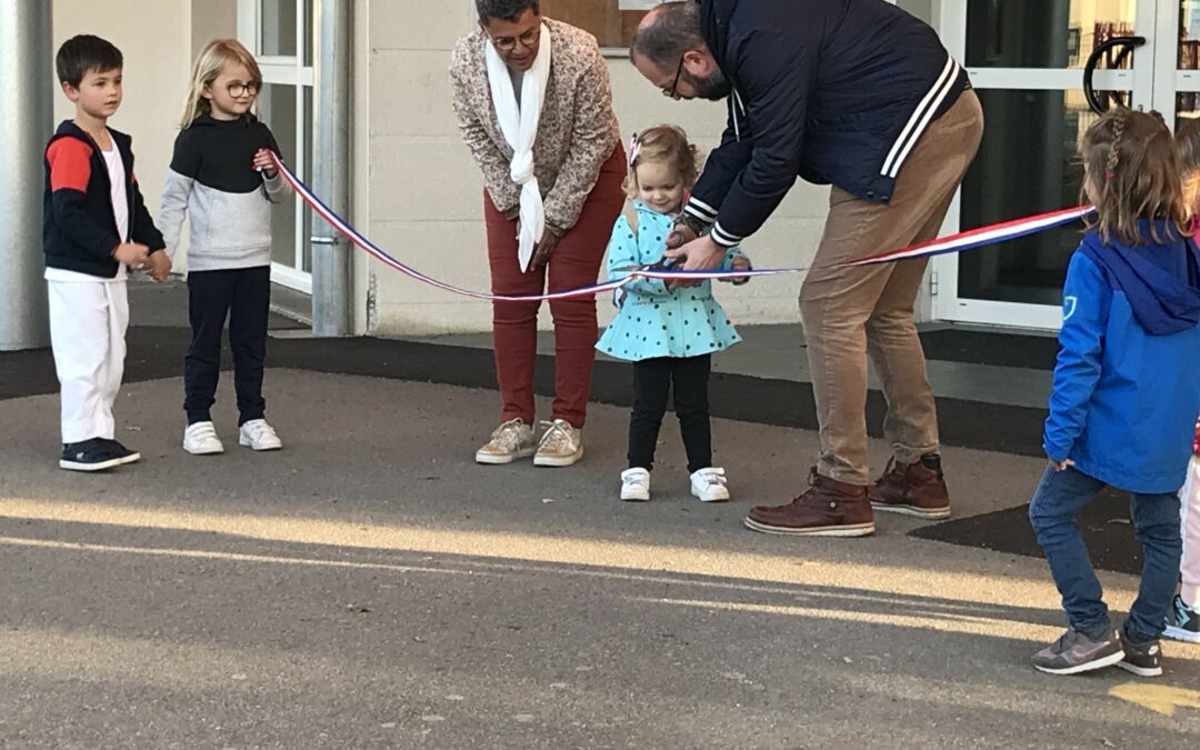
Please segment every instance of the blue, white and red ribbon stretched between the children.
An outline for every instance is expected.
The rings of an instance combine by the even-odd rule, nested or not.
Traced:
[[[276,154],[271,154],[275,160],[275,167],[278,169],[283,179],[292,186],[296,196],[305,202],[313,211],[317,212],[323,220],[325,220],[334,229],[342,234],[346,239],[350,240],[353,244],[359,246],[364,252],[366,252],[372,258],[379,260],[384,265],[400,271],[409,278],[414,278],[421,283],[426,283],[437,289],[444,289],[451,294],[458,294],[461,296],[467,296],[476,300],[491,300],[491,301],[533,301],[533,300],[564,300],[572,299],[577,296],[592,296],[595,294],[604,294],[606,292],[614,292],[625,284],[630,283],[635,278],[658,278],[660,281],[696,281],[696,280],[715,280],[715,281],[731,281],[734,278],[745,278],[748,276],[778,276],[780,274],[798,274],[806,271],[808,269],[802,268],[785,268],[785,269],[746,269],[736,271],[689,271],[683,269],[667,269],[661,264],[637,266],[629,270],[629,275],[622,278],[613,278],[602,283],[595,283],[587,287],[578,287],[576,289],[566,289],[563,292],[551,292],[548,294],[490,294],[487,292],[476,292],[473,289],[463,289],[461,287],[455,287],[444,281],[438,281],[432,276],[422,274],[416,269],[401,263],[392,256],[390,256],[382,247],[364,236],[358,229],[355,229],[349,222],[343,220],[332,209],[330,209],[325,203],[312,192],[304,180],[298,178],[294,172],[292,172],[283,160]],[[1094,209],[1092,206],[1079,206],[1074,209],[1063,209],[1061,211],[1052,211],[1050,214],[1039,214],[1037,216],[1030,216],[1027,218],[1018,218],[1014,221],[1003,222],[1000,224],[991,224],[990,227],[980,227],[979,229],[972,229],[970,232],[962,232],[960,234],[954,234],[938,240],[932,240],[929,242],[922,242],[919,245],[911,245],[908,247],[901,247],[899,250],[889,250],[886,252],[877,253],[869,258],[862,260],[854,260],[847,263],[846,265],[870,265],[875,263],[895,263],[898,260],[908,260],[913,258],[930,258],[932,256],[940,256],[952,252],[964,252],[967,250],[974,250],[977,247],[983,247],[985,245],[995,245],[996,242],[1003,242],[1007,240],[1013,240],[1016,238],[1026,236],[1030,234],[1036,234],[1052,227],[1061,227],[1063,224],[1069,224],[1070,222],[1078,221],[1079,218],[1091,214]]]

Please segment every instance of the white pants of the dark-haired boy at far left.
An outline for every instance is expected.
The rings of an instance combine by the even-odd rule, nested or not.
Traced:
[[[112,439],[130,324],[125,281],[46,283],[54,367],[62,386],[62,442]]]

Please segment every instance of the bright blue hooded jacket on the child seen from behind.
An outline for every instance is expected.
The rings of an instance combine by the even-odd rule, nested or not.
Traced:
[[[1158,230],[1134,246],[1091,232],[1072,256],[1044,438],[1050,458],[1142,493],[1183,486],[1200,414],[1200,252]]]

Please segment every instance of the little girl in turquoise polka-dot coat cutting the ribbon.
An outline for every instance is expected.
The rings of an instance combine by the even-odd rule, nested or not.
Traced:
[[[674,217],[700,174],[698,162],[696,146],[678,127],[660,125],[634,138],[625,191],[634,198],[636,224],[624,216],[617,220],[608,242],[610,277],[662,260]],[[749,269],[750,262],[733,248],[724,268]],[[620,475],[620,499],[650,499],[654,449],[673,385],[691,493],[706,503],[727,500],[725,469],[713,466],[708,374],[712,353],[742,338],[713,299],[712,282],[672,289],[661,281],[640,278],[622,287],[618,299],[620,312],[596,348],[634,362],[629,469]]]

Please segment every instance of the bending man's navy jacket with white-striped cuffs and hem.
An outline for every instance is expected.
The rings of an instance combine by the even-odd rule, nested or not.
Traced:
[[[802,176],[878,203],[967,88],[937,35],[884,0],[697,0],[733,84],[728,126],[686,211],[713,239],[757,232]]]

